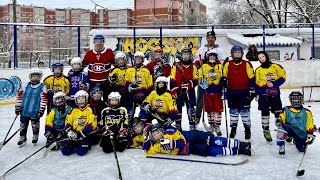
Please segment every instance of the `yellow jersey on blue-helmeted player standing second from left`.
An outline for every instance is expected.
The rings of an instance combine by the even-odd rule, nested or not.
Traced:
[[[61,77],[50,75],[43,80],[43,84],[46,85],[47,89],[51,89],[54,93],[62,91],[68,95],[70,91],[70,81],[65,75],[62,75]]]

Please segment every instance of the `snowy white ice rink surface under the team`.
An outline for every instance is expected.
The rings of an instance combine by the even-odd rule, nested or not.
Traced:
[[[292,90],[282,90],[283,105],[288,105],[288,95]],[[311,105],[311,107],[308,107]],[[315,124],[320,126],[320,105],[318,103],[308,103],[305,107],[313,112]],[[184,110],[185,111],[185,110]],[[224,113],[223,113],[224,114]],[[186,112],[183,114],[183,128],[188,129]],[[1,128],[0,141],[6,135],[14,117],[14,105],[0,107]],[[229,119],[229,117],[228,117]],[[19,136],[14,137],[0,151],[0,175],[13,167],[15,164],[28,157],[30,154],[45,145],[44,118],[41,120],[41,136],[36,146],[31,144],[32,131],[28,130],[28,143],[18,148]],[[141,179],[296,179],[296,172],[302,153],[299,153],[294,145],[286,146],[286,155],[281,158],[278,155],[278,146],[275,144],[276,131],[272,131],[274,139],[273,145],[268,144],[263,137],[260,111],[257,103],[252,102],[252,146],[254,155],[249,156],[229,156],[229,157],[200,157],[191,155],[181,157],[185,159],[197,159],[205,161],[238,162],[248,158],[249,162],[240,166],[224,166],[215,164],[190,163],[180,161],[167,161],[158,159],[147,159],[141,149],[129,149],[123,153],[118,153],[122,177],[125,180]],[[224,121],[224,116],[223,116]],[[244,129],[239,123],[237,138],[244,139]],[[274,118],[271,118],[271,129],[275,129]],[[12,132],[19,128],[19,120],[16,121]],[[202,124],[198,128],[204,130]],[[223,135],[225,132],[225,122],[222,124]],[[230,132],[230,129],[229,129]],[[308,148],[303,167],[306,170],[301,179],[319,179],[320,169],[320,134],[315,133],[317,138]],[[118,172],[113,153],[105,154],[99,146],[94,146],[89,153],[83,157],[76,154],[69,157],[63,156],[60,151],[52,151],[43,159],[42,150],[25,163],[6,175],[6,179],[117,179]]]

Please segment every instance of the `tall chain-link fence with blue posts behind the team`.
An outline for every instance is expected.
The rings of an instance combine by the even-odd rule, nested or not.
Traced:
[[[184,47],[195,54],[207,43],[206,32],[216,32],[216,46],[230,56],[233,45],[241,45],[245,56],[250,45],[265,50],[273,60],[320,59],[320,24],[220,24],[152,27],[101,27],[38,24],[0,24],[1,68],[30,68],[43,62],[68,64],[72,57],[83,57],[93,48],[94,31],[106,37],[106,48],[129,55],[142,51],[147,55],[163,48],[171,61]]]

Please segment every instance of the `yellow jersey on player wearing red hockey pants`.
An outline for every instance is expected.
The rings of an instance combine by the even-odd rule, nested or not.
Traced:
[[[214,66],[210,64],[203,64],[198,70],[198,82],[204,79],[209,87],[206,89],[207,93],[221,93],[222,87],[219,85],[222,77],[222,64],[217,63]]]

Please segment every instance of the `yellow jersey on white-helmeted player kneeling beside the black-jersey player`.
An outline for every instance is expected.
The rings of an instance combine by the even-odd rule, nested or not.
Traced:
[[[67,116],[65,129],[72,128],[77,132],[90,133],[97,128],[97,116],[94,108],[87,105],[84,108],[75,108]]]

